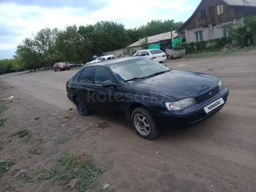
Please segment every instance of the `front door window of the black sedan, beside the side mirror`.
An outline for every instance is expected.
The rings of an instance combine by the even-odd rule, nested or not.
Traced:
[[[115,82],[115,79],[113,78],[111,73],[109,73],[108,69],[106,69],[106,67],[96,67],[95,84],[102,86],[102,83],[107,80]]]

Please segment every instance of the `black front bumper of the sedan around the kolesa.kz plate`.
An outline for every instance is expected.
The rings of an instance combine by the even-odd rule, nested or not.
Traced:
[[[218,94],[214,95],[214,97],[209,98],[207,101],[201,102],[200,104],[195,104],[190,106],[189,108],[179,110],[179,111],[151,111],[151,115],[160,122],[170,123],[176,125],[195,125],[200,123],[211,116],[218,113],[223,106],[227,102],[227,97],[229,95],[229,91],[227,88],[223,88],[223,90],[219,91]],[[223,98],[225,104],[219,106],[213,111],[206,113],[204,111],[204,107],[216,101],[219,98]]]

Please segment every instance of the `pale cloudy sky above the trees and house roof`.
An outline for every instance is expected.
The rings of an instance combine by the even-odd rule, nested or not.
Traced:
[[[200,0],[0,0],[0,59],[24,37],[48,27],[112,20],[133,28],[153,19],[186,21]]]

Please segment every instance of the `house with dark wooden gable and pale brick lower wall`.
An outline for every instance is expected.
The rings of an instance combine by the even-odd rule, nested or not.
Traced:
[[[243,24],[246,15],[256,15],[256,0],[202,0],[177,33],[186,42],[227,37],[227,26]]]

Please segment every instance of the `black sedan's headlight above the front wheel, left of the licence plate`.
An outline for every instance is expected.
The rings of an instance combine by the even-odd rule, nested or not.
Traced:
[[[168,111],[177,111],[177,110],[185,109],[194,104],[197,104],[197,101],[195,101],[195,99],[192,97],[182,99],[180,101],[165,102],[165,106],[168,109]]]

